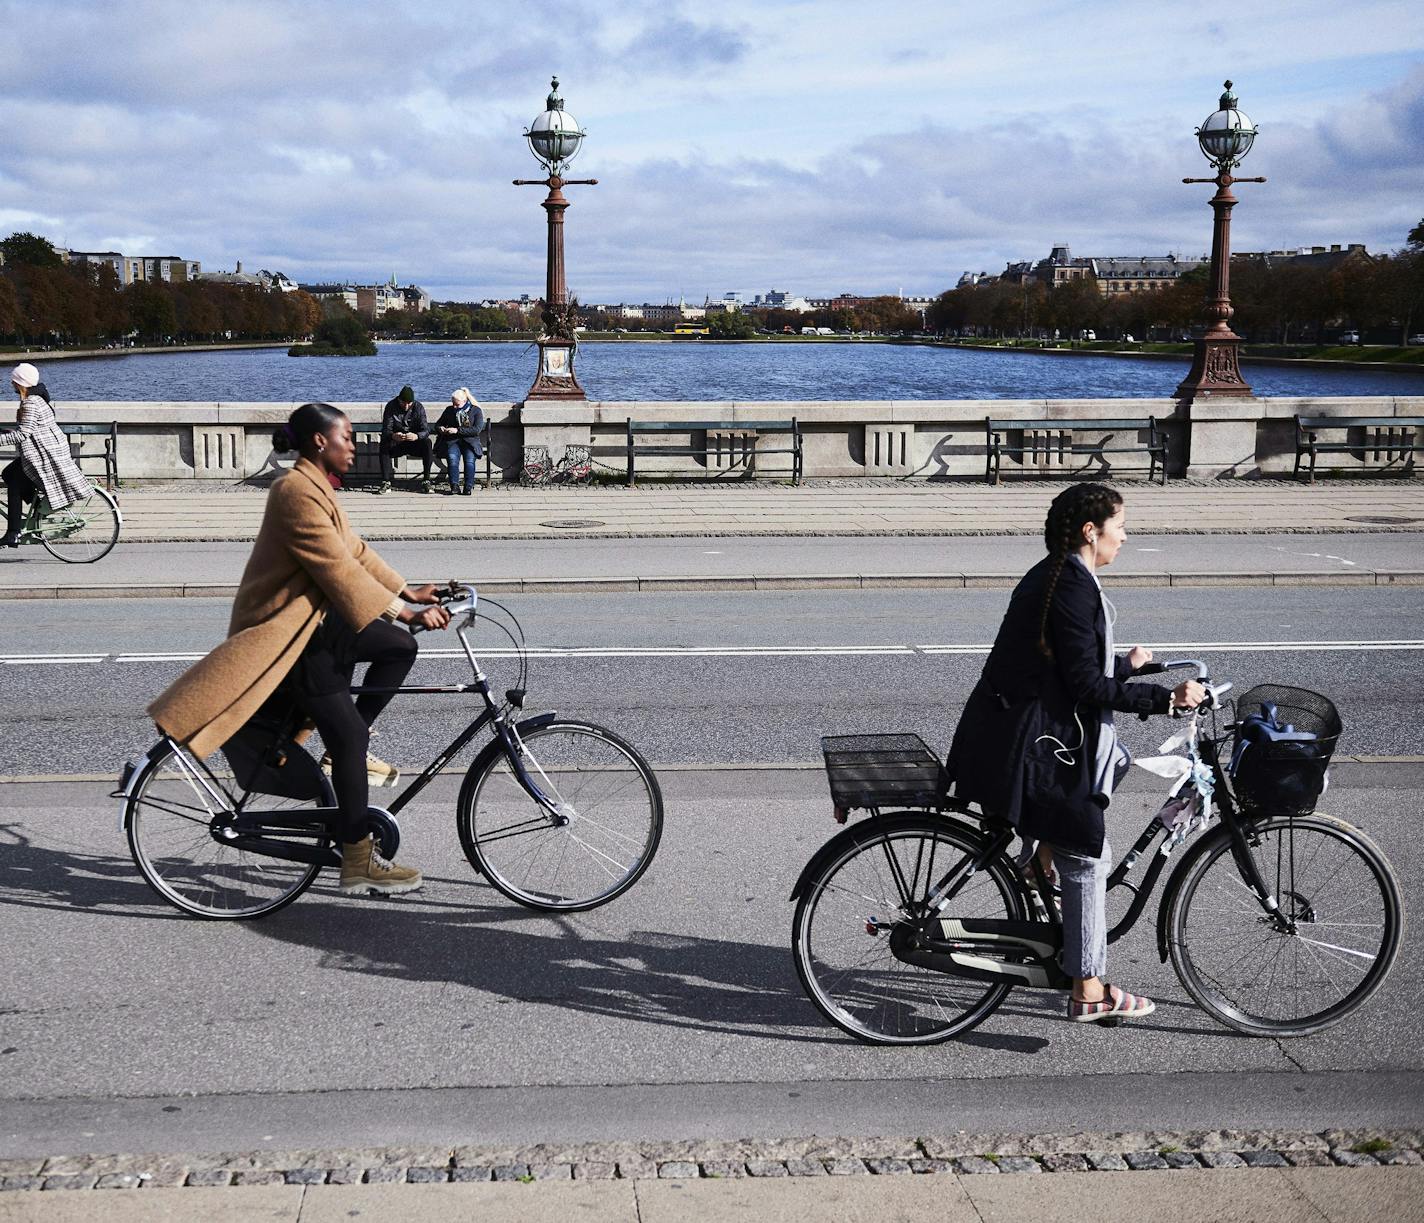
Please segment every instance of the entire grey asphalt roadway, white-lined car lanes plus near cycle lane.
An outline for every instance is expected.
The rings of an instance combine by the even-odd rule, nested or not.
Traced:
[[[1159,1002],[1139,1025],[1068,1025],[1057,995],[1032,991],[933,1049],[862,1046],[820,1021],[792,968],[787,896],[836,831],[824,780],[813,767],[739,766],[812,762],[817,736],[832,730],[921,729],[943,746],[981,665],[974,646],[991,639],[1004,598],[520,599],[540,651],[531,705],[605,720],[666,766],[666,831],[651,871],[617,903],[574,918],[528,914],[473,876],[451,827],[456,779],[437,780],[403,817],[402,857],[429,877],[422,894],[352,901],[319,884],[249,925],[185,920],[150,893],[108,784],[7,784],[0,1153],[172,1146],[184,1133],[209,1148],[337,1133],[389,1140],[390,1118],[412,1140],[440,1125],[474,1140],[535,1126],[535,1136],[570,1139],[676,1133],[699,1119],[699,1132],[731,1136],[763,1125],[833,1133],[1417,1118],[1424,964],[1408,940],[1363,1014],[1293,1042],[1239,1036],[1198,1012],[1158,962],[1146,921],[1112,952],[1114,978]],[[1341,752],[1424,747],[1424,592],[1122,591],[1116,604],[1124,645],[1195,644],[1219,662],[1218,678],[1331,693],[1347,725]],[[0,608],[0,773],[115,770],[151,738],[144,702],[184,665],[125,662],[124,652],[199,652],[225,616],[224,604],[197,601],[125,604],[121,616],[101,601]],[[1415,645],[1361,645],[1381,641]],[[553,656],[571,648],[604,652]],[[101,661],[16,661],[75,649]],[[490,661],[497,676],[510,666]],[[434,679],[460,663],[422,668]],[[377,749],[420,759],[456,722],[453,700],[393,706]],[[1168,729],[1124,722],[1135,750]],[[1119,846],[1159,800],[1139,776],[1109,813]],[[1424,900],[1421,780],[1418,765],[1337,766],[1327,803],[1377,839],[1414,908]],[[360,1092],[350,1113],[349,1089]]]

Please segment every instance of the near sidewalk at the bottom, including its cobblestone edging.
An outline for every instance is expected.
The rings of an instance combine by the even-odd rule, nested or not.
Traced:
[[[676,1143],[661,1150],[604,1143],[60,1156],[0,1160],[0,1223],[564,1223],[570,1216],[591,1223],[984,1223],[1077,1220],[1087,1203],[1096,1203],[1094,1214],[1163,1223],[1410,1223],[1424,1219],[1424,1160],[1407,1145],[1418,1138],[1223,1130]]]

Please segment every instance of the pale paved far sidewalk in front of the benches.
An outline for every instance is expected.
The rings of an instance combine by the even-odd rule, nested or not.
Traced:
[[[648,535],[1037,535],[1064,484],[903,480],[639,488],[488,488],[474,497],[342,494],[367,540]],[[1424,481],[1124,484],[1136,532],[1378,532],[1424,525]],[[261,488],[124,490],[124,538],[251,540]],[[577,525],[575,525],[577,524]]]

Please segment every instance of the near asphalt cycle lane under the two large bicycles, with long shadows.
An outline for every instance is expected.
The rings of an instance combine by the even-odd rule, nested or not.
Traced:
[[[1378,840],[1415,910],[1420,780],[1415,766],[1356,766],[1330,802]],[[543,1138],[629,1136],[658,1118],[671,1133],[702,1118],[735,1136],[768,1116],[783,1133],[842,1133],[1400,1125],[1417,1109],[1417,940],[1366,1011],[1302,1041],[1216,1027],[1142,923],[1114,947],[1112,972],[1158,999],[1151,1021],[1075,1027],[1058,995],[1018,991],[961,1041],[859,1045],[813,1011],[787,952],[792,881],[836,831],[822,777],[671,770],[664,783],[651,871],[591,914],[528,914],[474,878],[451,779],[403,820],[402,856],[429,873],[422,894],[352,901],[319,883],[246,925],[185,920],[151,894],[103,786],[9,787],[0,1153],[144,1149],[162,1145],[155,1133],[192,1146],[185,1116],[209,1149],[241,1149],[389,1142],[387,1118],[412,1140],[434,1119],[474,1140],[535,1122]],[[1125,844],[1155,803],[1121,794],[1109,836]],[[365,1093],[352,1113],[340,1095],[292,1096],[347,1089]],[[266,1093],[281,1105],[265,1108]]]

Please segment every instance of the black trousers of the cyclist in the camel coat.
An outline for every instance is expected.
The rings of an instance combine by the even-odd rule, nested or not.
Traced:
[[[397,688],[414,666],[417,649],[410,632],[389,621],[375,619],[355,632],[335,612],[328,612],[289,676],[293,702],[316,723],[332,753],[332,789],[340,807],[340,823],[333,831],[343,843],[366,836],[370,726],[393,695],[365,693],[352,700],[349,689],[356,663],[370,663],[362,686]]]

